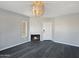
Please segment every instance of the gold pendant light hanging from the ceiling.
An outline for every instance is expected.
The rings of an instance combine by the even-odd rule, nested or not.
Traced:
[[[42,16],[44,13],[44,3],[43,1],[34,1],[32,6],[32,12],[35,16]]]

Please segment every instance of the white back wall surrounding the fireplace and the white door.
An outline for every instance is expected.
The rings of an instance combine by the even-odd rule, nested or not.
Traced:
[[[40,34],[40,40],[43,40],[43,23],[44,22],[54,22],[53,18],[48,17],[31,17],[30,18],[30,32],[29,32],[29,39],[31,38],[31,34]],[[54,34],[54,31],[52,32]]]

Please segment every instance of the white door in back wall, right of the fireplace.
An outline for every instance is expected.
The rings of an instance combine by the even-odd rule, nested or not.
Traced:
[[[52,22],[44,22],[42,33],[43,33],[43,40],[52,40],[53,37],[53,26]]]

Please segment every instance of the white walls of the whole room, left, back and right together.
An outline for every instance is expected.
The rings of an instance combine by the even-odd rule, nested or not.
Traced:
[[[16,13],[0,9],[0,50],[10,48],[30,41],[31,34],[41,34],[43,22],[53,23],[53,41],[79,47],[79,14],[64,15],[60,17],[30,17],[28,37],[21,38],[20,23],[29,18]]]

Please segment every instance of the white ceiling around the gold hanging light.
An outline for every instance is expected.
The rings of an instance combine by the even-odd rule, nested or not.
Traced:
[[[79,1],[44,1],[45,17],[79,13]],[[32,1],[0,1],[0,8],[19,14],[32,15]]]

